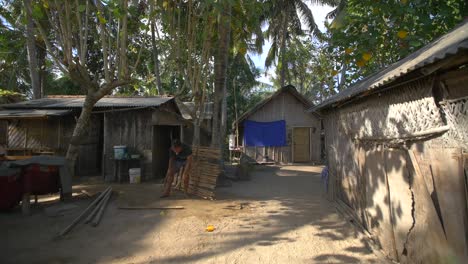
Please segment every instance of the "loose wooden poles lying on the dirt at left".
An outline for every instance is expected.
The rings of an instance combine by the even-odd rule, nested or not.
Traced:
[[[86,220],[84,221],[85,224],[91,224],[92,226],[96,227],[99,225],[101,218],[104,214],[104,210],[109,202],[109,199],[112,195],[112,187],[107,187],[93,202],[91,202],[88,207],[77,217],[73,222],[67,226],[62,232],[60,232],[59,236],[64,236],[68,232],[70,232],[73,227],[75,227],[81,220],[83,220],[86,216]]]

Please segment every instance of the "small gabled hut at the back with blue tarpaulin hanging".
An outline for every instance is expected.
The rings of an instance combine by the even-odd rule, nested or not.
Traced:
[[[292,85],[266,98],[235,121],[239,145],[257,162],[318,162],[321,120]]]

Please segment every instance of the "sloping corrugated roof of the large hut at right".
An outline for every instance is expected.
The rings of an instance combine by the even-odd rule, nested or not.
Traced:
[[[339,94],[328,98],[321,104],[309,109],[309,111],[323,109],[331,104],[346,101],[358,94],[374,90],[395,81],[397,78],[409,72],[445,59],[451,55],[455,55],[459,51],[466,49],[468,49],[468,20],[465,20],[449,33],[427,44],[406,58],[401,59],[384,70],[367,77],[348,89],[343,90]]]

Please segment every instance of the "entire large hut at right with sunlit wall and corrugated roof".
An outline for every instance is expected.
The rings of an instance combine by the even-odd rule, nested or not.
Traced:
[[[329,197],[390,258],[468,262],[468,21],[311,111]]]

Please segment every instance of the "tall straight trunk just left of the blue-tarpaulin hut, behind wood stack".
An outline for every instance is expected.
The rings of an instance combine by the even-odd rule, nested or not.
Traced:
[[[218,52],[215,56],[215,95],[213,111],[213,134],[211,138],[211,146],[220,148],[222,148],[222,143],[224,142],[223,137],[226,136],[226,77],[229,59],[229,42],[231,35],[231,6],[228,1],[225,1],[224,4],[224,9],[218,24],[219,43]]]

